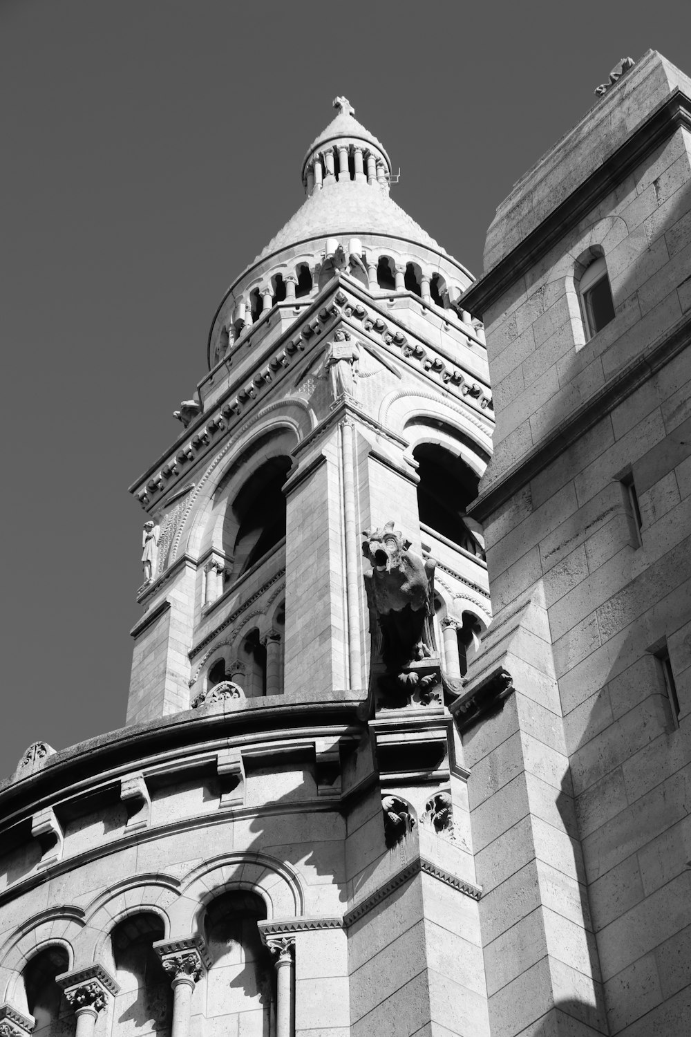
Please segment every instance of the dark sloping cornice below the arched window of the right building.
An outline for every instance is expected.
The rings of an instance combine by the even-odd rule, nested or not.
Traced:
[[[467,513],[478,522],[485,522],[505,501],[518,493],[584,432],[635,392],[652,374],[685,349],[690,341],[691,311],[681,317],[670,331],[664,332],[630,364],[617,371],[582,407],[557,425],[544,443],[525,454],[496,482],[481,493],[467,508]]]

